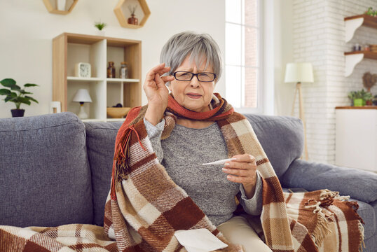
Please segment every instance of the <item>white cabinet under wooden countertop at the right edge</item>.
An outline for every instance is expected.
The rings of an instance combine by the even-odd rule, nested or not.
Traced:
[[[377,106],[336,107],[336,165],[377,172]]]

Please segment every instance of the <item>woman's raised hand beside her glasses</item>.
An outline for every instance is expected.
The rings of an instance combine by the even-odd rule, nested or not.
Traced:
[[[174,76],[162,75],[169,70],[170,67],[165,67],[165,63],[162,63],[153,67],[153,69],[146,73],[143,88],[146,98],[148,99],[148,109],[146,109],[145,119],[153,125],[160,123],[167,107],[169,90],[165,83],[174,80]]]

